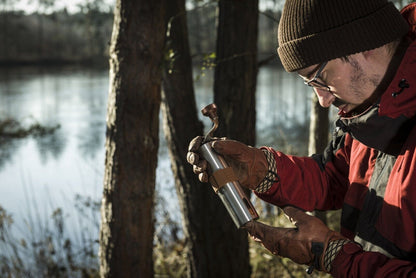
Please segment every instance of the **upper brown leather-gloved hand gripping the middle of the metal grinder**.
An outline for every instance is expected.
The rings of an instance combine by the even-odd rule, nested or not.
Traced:
[[[208,182],[209,165],[198,153],[203,139],[202,136],[198,136],[190,142],[186,157],[193,165],[193,171],[198,174],[199,180]],[[225,138],[215,138],[208,144],[211,144],[211,147],[233,168],[242,186],[254,190],[266,176],[268,162],[262,150]]]

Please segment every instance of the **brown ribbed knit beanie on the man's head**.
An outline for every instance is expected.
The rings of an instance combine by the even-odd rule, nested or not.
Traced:
[[[278,53],[292,72],[378,48],[404,36],[408,28],[387,0],[286,0]]]

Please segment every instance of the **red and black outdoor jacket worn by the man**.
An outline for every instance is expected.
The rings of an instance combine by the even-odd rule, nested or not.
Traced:
[[[416,36],[416,3],[403,10]],[[402,54],[403,55],[403,54]],[[308,211],[342,208],[347,244],[333,262],[335,277],[416,277],[416,41],[379,101],[337,120],[324,154],[272,151],[279,182],[263,200]]]

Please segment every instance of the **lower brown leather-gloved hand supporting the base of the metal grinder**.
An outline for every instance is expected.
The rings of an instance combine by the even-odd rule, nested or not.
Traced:
[[[336,254],[350,241],[300,209],[288,206],[283,210],[296,228],[271,227],[255,221],[248,222],[244,228],[274,255],[329,272]]]

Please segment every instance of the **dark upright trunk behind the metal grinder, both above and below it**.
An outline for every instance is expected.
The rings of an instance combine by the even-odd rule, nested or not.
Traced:
[[[257,79],[257,0],[220,0],[214,100],[218,106],[218,136],[255,144]],[[222,208],[216,222],[223,233],[217,254],[221,277],[250,277],[247,233],[237,230]],[[219,236],[219,235],[218,235]]]

